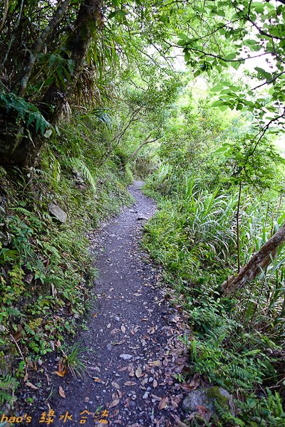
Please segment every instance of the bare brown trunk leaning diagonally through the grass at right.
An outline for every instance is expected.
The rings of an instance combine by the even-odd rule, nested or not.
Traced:
[[[257,253],[255,253],[249,260],[247,265],[244,265],[239,274],[234,277],[231,276],[222,284],[222,291],[224,296],[229,296],[236,293],[239,289],[243,288],[247,283],[251,283],[257,275],[261,273],[276,256],[277,248],[285,241],[285,223],[268,242],[262,246]]]

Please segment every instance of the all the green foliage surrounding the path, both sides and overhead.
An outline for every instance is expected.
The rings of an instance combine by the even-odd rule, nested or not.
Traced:
[[[284,1],[0,13],[0,404],[76,331],[95,274],[86,231],[148,176],[144,245],[189,314],[185,381],[238,398],[224,425],[284,425],[284,246],[231,297],[222,287],[284,224]]]

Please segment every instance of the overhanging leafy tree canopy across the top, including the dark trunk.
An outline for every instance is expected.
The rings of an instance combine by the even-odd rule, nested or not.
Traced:
[[[283,129],[282,1],[5,0],[1,16],[1,164],[31,166],[69,105],[103,107],[118,75],[143,73],[147,59],[175,72],[179,51],[194,78],[220,75],[215,106],[254,114],[252,149]],[[261,58],[250,73],[257,84],[222,77]]]

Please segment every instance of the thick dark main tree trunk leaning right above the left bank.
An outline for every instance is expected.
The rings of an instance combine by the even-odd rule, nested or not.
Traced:
[[[74,30],[67,37],[66,47],[63,51],[69,52],[68,59],[73,60],[74,69],[70,81],[64,85],[57,85],[53,80],[46,93],[43,95],[41,102],[41,113],[43,117],[52,125],[56,124],[58,117],[63,110],[68,98],[71,97],[78,77],[86,59],[90,41],[92,39],[92,29],[94,23],[100,21],[100,8],[102,0],[85,0],[81,4]],[[65,2],[67,4],[68,1]],[[31,68],[31,67],[30,67]],[[26,68],[26,76],[29,78],[30,69]],[[24,75],[25,78],[25,75]],[[25,83],[25,84],[24,84]],[[26,81],[22,87],[26,85]],[[13,117],[11,112],[2,109],[1,129],[0,129],[0,165],[1,166],[33,166],[36,157],[46,142],[46,138],[40,135],[34,127],[19,130],[17,127],[16,114]],[[3,117],[3,119],[2,119]]]

